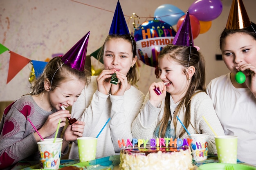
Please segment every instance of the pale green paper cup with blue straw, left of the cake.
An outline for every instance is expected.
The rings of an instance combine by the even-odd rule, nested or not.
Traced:
[[[77,145],[80,162],[91,161],[96,158],[97,138],[78,137]]]

